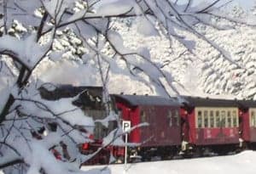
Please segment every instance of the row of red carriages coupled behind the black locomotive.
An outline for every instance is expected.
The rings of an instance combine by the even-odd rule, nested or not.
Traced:
[[[183,102],[177,102],[177,98],[156,96],[111,97],[121,121],[131,121],[131,126],[149,123],[149,126],[137,127],[129,134],[128,143],[133,144],[128,150],[130,160],[134,157],[150,160],[154,156],[172,159],[177,155],[228,154],[256,149],[256,102],[252,100],[183,96]],[[110,154],[116,159],[124,159],[124,147],[110,145],[104,150],[86,164],[108,163]],[[103,162],[99,160],[102,156]]]

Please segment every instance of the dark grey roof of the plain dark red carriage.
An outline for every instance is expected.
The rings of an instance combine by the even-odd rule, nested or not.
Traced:
[[[180,106],[175,98],[163,98],[160,96],[148,96],[148,95],[111,95],[115,100],[121,100],[131,106],[138,105],[167,105],[167,106]]]

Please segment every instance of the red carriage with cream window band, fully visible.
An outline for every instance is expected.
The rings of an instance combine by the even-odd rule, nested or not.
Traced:
[[[224,154],[239,146],[238,104],[235,100],[185,97],[182,107],[184,150]]]

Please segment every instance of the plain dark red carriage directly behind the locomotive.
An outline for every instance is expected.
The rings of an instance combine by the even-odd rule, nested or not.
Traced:
[[[131,126],[149,124],[129,134],[129,143],[140,143],[132,151],[143,160],[156,154],[167,158],[178,152],[181,144],[179,103],[157,96],[113,95],[113,98],[124,121],[131,121]]]

